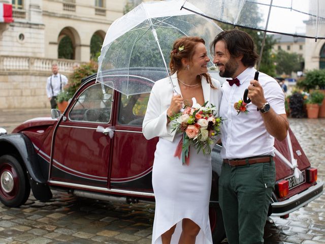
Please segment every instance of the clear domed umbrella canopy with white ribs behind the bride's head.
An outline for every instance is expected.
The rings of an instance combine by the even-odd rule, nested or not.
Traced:
[[[153,83],[160,79],[150,75],[152,70],[165,69],[166,76],[169,75],[167,64],[177,38],[202,37],[209,50],[209,43],[221,28],[210,19],[181,10],[183,3],[182,0],[142,3],[114,21],[103,43],[97,80],[125,95],[149,93]],[[214,65],[210,63],[210,67]],[[132,74],[134,69],[136,76]],[[117,74],[111,75],[111,70]]]

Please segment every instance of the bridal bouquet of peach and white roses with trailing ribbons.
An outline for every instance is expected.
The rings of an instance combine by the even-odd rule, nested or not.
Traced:
[[[186,107],[183,112],[175,114],[171,120],[173,123],[173,131],[180,130],[183,132],[176,151],[175,157],[182,156],[182,163],[189,163],[189,146],[193,145],[203,154],[211,153],[211,144],[213,144],[214,136],[220,133],[221,117],[216,116],[216,107],[208,102],[202,106],[194,104],[192,107]]]

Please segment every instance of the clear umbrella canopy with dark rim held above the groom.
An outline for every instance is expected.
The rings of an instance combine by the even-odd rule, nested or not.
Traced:
[[[193,8],[194,6],[194,8]],[[325,1],[319,0],[186,0],[184,9],[206,17],[269,33],[325,39]],[[200,14],[200,13],[199,13]],[[257,20],[257,21],[256,21]],[[308,29],[301,27],[308,24]]]

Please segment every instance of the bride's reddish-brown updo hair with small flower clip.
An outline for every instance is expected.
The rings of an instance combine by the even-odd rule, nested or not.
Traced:
[[[205,44],[205,41],[200,37],[181,37],[176,39],[171,51],[171,61],[169,63],[171,75],[183,69],[182,58],[187,58],[189,62],[192,61],[195,47],[200,42]],[[211,76],[207,73],[202,75],[207,79],[208,83],[210,83],[210,86],[215,88],[211,83]]]

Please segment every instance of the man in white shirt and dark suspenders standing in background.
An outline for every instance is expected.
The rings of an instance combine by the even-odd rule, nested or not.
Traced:
[[[63,87],[68,84],[68,78],[58,73],[57,64],[52,65],[52,75],[47,78],[46,94],[50,100],[51,108],[56,108],[56,96],[61,92]]]

